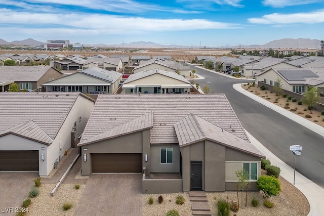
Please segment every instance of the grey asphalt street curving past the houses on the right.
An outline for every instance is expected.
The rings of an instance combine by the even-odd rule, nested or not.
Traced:
[[[205,79],[195,80],[200,88],[208,85],[212,93],[224,93],[243,127],[282,161],[294,167],[291,145],[301,145],[296,170],[324,188],[324,137],[233,89],[233,79],[190,65]],[[243,82],[248,82],[243,79]],[[251,81],[249,81],[251,82]]]

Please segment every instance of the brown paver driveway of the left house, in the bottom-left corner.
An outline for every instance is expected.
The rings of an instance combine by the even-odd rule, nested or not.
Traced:
[[[14,215],[28,198],[38,172],[0,172],[0,215]]]

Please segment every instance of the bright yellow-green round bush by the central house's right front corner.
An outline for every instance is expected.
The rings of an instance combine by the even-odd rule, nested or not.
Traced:
[[[257,186],[262,191],[263,198],[277,196],[281,191],[279,180],[272,176],[260,176]]]

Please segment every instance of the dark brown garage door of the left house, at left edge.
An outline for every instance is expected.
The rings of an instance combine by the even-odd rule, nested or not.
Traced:
[[[0,151],[0,171],[38,170],[38,151]]]

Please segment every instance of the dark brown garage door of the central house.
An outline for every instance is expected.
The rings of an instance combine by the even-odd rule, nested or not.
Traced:
[[[140,173],[142,154],[92,154],[93,173]]]

